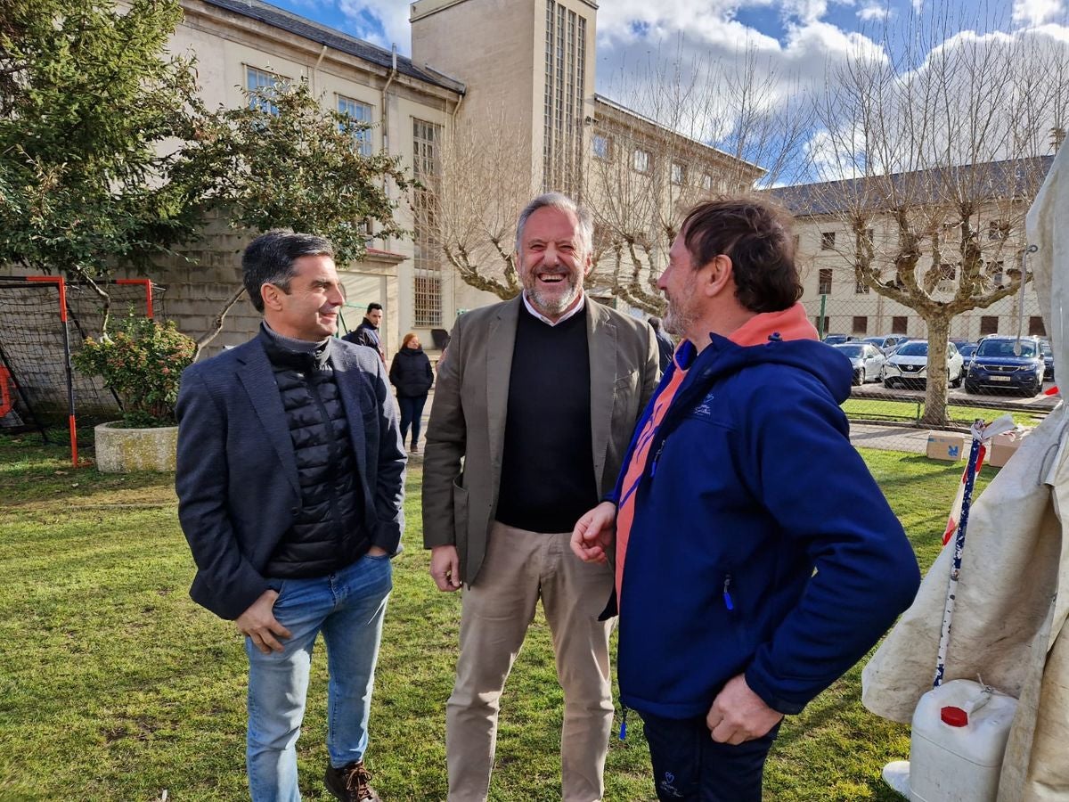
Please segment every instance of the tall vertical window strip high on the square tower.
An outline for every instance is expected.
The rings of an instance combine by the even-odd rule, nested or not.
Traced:
[[[574,192],[583,164],[587,20],[554,0],[545,6],[542,183]]]

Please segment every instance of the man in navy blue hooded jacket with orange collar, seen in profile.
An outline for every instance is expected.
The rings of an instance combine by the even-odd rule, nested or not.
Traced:
[[[657,796],[759,800],[784,714],[871,648],[919,573],[850,444],[850,366],[796,303],[789,218],[750,199],[695,207],[657,286],[686,342],[615,503],[572,549],[615,551],[620,699],[645,722]]]

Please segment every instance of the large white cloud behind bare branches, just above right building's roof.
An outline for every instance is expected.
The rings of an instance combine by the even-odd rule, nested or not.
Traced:
[[[1069,113],[1053,91],[1069,79],[1069,28],[960,31],[910,57],[894,70],[859,71],[870,76],[862,88],[831,88],[830,125],[807,146],[822,179],[1050,152],[1049,133]],[[856,98],[866,96],[863,112]]]

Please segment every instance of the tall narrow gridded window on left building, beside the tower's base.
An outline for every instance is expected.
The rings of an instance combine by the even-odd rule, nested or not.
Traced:
[[[413,167],[422,185],[416,190],[415,213],[415,310],[416,326],[441,325],[441,262],[434,211],[435,192],[441,181],[438,149],[441,126],[413,119]]]

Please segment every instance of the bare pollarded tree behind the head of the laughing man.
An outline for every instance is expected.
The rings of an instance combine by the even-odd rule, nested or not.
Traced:
[[[662,312],[655,282],[686,211],[703,197],[781,181],[802,164],[810,113],[804,93],[784,91],[755,50],[735,56],[652,61],[615,88],[626,105],[599,95],[593,117],[576,123],[586,156],[555,179],[594,213],[589,289]],[[515,216],[520,199],[538,190],[541,169],[531,132],[508,111],[465,109],[447,133],[438,171],[417,175],[422,188],[413,201],[417,228],[433,231],[458,275],[501,298],[521,289]]]

